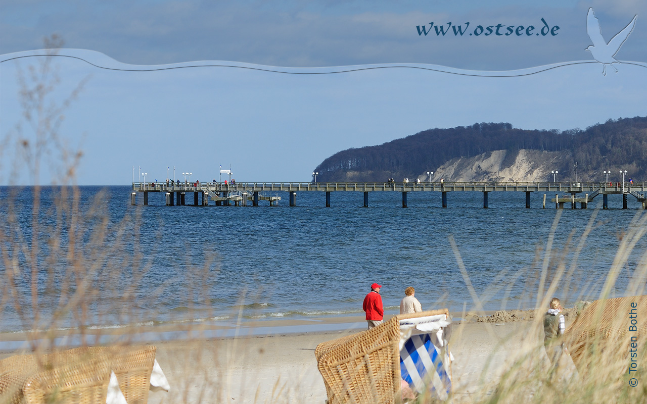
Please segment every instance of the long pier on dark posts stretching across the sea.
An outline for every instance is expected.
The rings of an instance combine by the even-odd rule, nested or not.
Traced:
[[[270,206],[281,198],[270,195],[272,192],[287,192],[289,205],[296,206],[296,195],[300,192],[325,192],[325,206],[331,206],[333,192],[363,192],[364,206],[369,206],[371,192],[402,193],[402,207],[407,207],[407,194],[410,192],[437,192],[442,194],[443,207],[448,206],[448,193],[476,191],[483,193],[483,207],[488,207],[490,192],[525,192],[525,207],[530,206],[532,192],[544,193],[543,205],[546,207],[546,195],[551,195],[557,209],[564,209],[577,204],[587,209],[589,203],[602,195],[602,207],[608,209],[608,195],[622,195],[622,209],[627,209],[627,198],[635,197],[647,209],[645,184],[628,182],[421,182],[420,184],[402,182],[236,182],[223,184],[219,182],[193,183],[176,182],[175,184],[133,182],[131,204],[137,204],[137,193],[144,196],[144,205],[148,205],[148,193],[166,193],[167,206],[186,205],[186,193],[193,193],[193,206],[208,206],[209,200],[216,206],[258,206],[261,200],[268,201]],[[562,195],[560,195],[560,193]],[[173,198],[175,195],[175,198]],[[552,198],[554,195],[554,198]]]

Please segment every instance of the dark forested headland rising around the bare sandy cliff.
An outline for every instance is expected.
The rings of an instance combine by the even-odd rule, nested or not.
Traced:
[[[627,170],[635,180],[647,180],[647,117],[619,118],[586,129],[520,129],[510,123],[474,123],[449,129],[428,129],[381,145],[352,148],[323,160],[314,171],[320,182],[382,182],[415,178],[435,171],[457,157],[474,157],[505,150],[567,151],[560,178],[599,181],[602,171]],[[549,178],[549,173],[546,173]]]

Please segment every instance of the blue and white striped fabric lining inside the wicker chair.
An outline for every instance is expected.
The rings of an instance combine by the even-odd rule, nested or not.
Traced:
[[[434,346],[429,334],[411,335],[400,350],[402,379],[419,394],[428,390],[446,399],[452,388],[448,370],[446,347]]]

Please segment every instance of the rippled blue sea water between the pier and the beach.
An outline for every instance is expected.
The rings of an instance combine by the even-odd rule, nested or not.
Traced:
[[[10,277],[3,277],[4,332],[28,328],[32,315],[32,191],[0,188],[5,217],[2,270],[15,275],[12,279],[23,293],[17,297],[21,318],[13,304],[16,298],[6,295]],[[525,209],[524,193],[491,192],[489,209],[481,208],[481,193],[449,193],[444,209],[440,193],[409,193],[409,207],[403,209],[401,194],[395,192],[369,193],[367,208],[360,192],[332,193],[329,208],[325,193],[317,192],[297,193],[296,207],[288,206],[287,193],[276,193],[281,197],[276,207],[267,202],[259,207],[219,207],[214,202],[167,207],[162,193],[149,193],[149,206],[142,206],[139,195],[138,206],[131,206],[130,192],[128,186],[80,187],[78,213],[72,213],[66,210],[73,207],[70,198],[56,207],[58,191],[41,191],[41,317],[58,315],[63,325],[83,321],[116,326],[352,315],[362,313],[362,300],[373,282],[383,286],[388,312],[397,311],[407,286],[415,288],[425,309],[461,311],[465,305],[469,310],[474,301],[450,237],[486,309],[530,308],[540,279],[542,262],[537,259],[543,259],[556,216],[556,209],[541,208],[542,193],[532,193],[531,209]],[[187,193],[187,202],[192,201]],[[602,197],[595,202],[590,206],[601,205]],[[641,212],[635,198],[629,202],[630,209],[622,210],[620,196],[611,195],[611,209],[597,210],[573,279],[556,292],[567,304],[599,294],[619,239]],[[573,264],[573,251],[595,212],[563,211],[553,246],[567,266]],[[84,272],[69,264],[69,224],[74,218],[74,253],[91,275],[77,275]],[[637,244],[620,272],[615,295],[624,294],[646,246],[644,240]],[[549,268],[558,261],[552,260]],[[87,310],[65,306],[66,292],[82,288],[83,281],[89,282]]]

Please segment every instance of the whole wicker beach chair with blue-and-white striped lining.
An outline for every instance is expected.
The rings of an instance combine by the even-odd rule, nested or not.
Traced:
[[[446,398],[451,321],[447,309],[396,315],[370,330],[318,345],[314,355],[329,404],[400,403],[402,379],[419,393]]]

